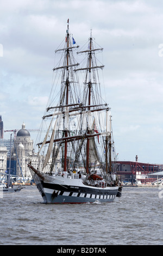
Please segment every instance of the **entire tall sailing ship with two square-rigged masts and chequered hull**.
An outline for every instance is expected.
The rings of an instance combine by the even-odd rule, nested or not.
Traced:
[[[85,46],[79,50],[68,20],[66,38],[55,51],[58,64],[42,117],[40,129],[47,127],[47,133],[41,138],[40,132],[37,143],[38,157],[45,161],[37,168],[28,163],[45,203],[113,202],[121,196],[111,111],[99,83],[104,65],[96,56],[103,48],[92,33]]]

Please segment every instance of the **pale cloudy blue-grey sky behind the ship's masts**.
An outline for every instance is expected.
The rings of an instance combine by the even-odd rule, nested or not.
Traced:
[[[54,51],[67,19],[78,45],[103,50],[105,95],[119,161],[163,163],[161,0],[0,0],[0,115],[4,130],[39,129]],[[35,131],[30,132],[33,139]],[[4,139],[10,132],[4,132]]]

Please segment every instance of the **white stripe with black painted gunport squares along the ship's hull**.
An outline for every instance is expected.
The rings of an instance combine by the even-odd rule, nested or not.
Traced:
[[[51,190],[49,188],[44,188],[45,193],[53,194],[54,190]],[[66,196],[66,197],[86,197],[86,198],[95,198],[95,199],[113,199],[115,198],[116,194],[108,194],[108,195],[99,195],[99,194],[89,194],[89,193],[78,193],[78,192],[61,192],[58,190],[55,190],[55,193],[58,194],[58,196]]]

